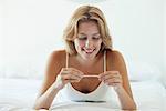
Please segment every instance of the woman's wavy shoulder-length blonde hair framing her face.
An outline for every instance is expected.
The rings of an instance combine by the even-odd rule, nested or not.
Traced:
[[[66,43],[66,51],[70,54],[77,53],[73,40],[77,36],[79,23],[84,21],[96,21],[103,41],[101,51],[104,49],[112,49],[112,39],[103,12],[93,6],[82,6],[75,10],[63,32],[63,39]]]

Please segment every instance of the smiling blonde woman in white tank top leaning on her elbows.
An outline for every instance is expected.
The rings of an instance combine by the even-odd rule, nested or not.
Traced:
[[[92,6],[80,7],[63,38],[65,50],[52,52],[34,109],[49,109],[58,92],[65,89],[72,101],[105,101],[111,87],[121,109],[135,110],[123,56],[112,49],[103,12]]]

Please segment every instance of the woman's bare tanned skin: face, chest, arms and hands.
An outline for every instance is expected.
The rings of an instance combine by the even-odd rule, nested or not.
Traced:
[[[135,110],[126,65],[118,51],[106,51],[107,71],[103,72],[103,52],[100,51],[102,39],[95,22],[81,23],[79,37],[73,42],[77,54],[70,56],[70,68],[65,68],[64,50],[51,54],[34,109],[49,109],[56,93],[69,82],[77,91],[90,93],[103,81],[114,87],[123,110]],[[98,78],[83,78],[85,74]]]

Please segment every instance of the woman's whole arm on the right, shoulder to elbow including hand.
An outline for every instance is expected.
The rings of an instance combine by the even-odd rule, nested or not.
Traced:
[[[135,110],[136,104],[133,99],[126,64],[122,54],[117,51],[108,52],[108,62],[112,63],[111,71],[101,74],[101,80],[114,87],[123,110]]]

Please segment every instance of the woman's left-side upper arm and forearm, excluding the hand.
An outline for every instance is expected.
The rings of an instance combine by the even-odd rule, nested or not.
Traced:
[[[42,83],[42,88],[40,90],[40,93],[35,100],[34,109],[48,109],[52,104],[52,101],[56,93],[59,92],[59,88],[55,85],[54,81],[56,80],[56,75],[61,70],[62,62],[61,62],[61,52],[54,51],[51,53],[51,57],[49,59],[49,63],[46,67],[44,81]]]

